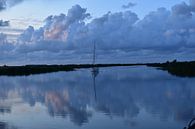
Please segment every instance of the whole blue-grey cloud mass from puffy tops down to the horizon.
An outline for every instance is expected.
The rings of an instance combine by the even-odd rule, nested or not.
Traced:
[[[18,54],[21,60],[37,58],[49,62],[89,61],[94,42],[101,60],[132,58],[147,62],[147,58],[162,61],[195,56],[194,0],[176,4],[171,10],[159,8],[143,19],[129,10],[88,20],[90,17],[87,9],[79,5],[67,14],[49,16],[41,28],[28,27],[12,49],[11,53],[16,54],[6,56]]]

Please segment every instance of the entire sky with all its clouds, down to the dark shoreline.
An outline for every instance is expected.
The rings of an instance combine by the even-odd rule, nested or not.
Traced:
[[[195,57],[195,0],[0,0],[0,64]]]

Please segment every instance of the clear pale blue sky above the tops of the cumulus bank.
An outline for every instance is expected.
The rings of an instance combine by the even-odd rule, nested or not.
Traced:
[[[24,0],[17,6],[1,12],[0,17],[12,21],[12,27],[24,29],[32,24],[35,27],[40,26],[47,16],[66,13],[75,4],[87,8],[92,17],[96,18],[108,11],[121,11],[123,10],[122,5],[132,2],[136,6],[131,8],[131,10],[135,11],[142,18],[150,11],[159,7],[170,9],[175,3],[181,1],[183,0],[147,0],[147,2],[145,0],[112,0],[112,2],[109,0]]]

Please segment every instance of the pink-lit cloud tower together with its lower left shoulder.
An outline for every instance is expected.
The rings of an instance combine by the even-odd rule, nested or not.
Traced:
[[[79,26],[85,24],[84,20],[88,17],[90,17],[90,14],[86,13],[85,8],[75,5],[68,10],[67,15],[48,16],[45,19],[45,25],[39,30],[34,30],[34,28],[30,26],[18,40],[20,42],[32,42],[37,40],[66,41],[68,29],[74,25]]]

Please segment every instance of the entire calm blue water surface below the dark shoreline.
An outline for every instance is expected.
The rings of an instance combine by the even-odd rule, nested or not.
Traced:
[[[148,67],[0,77],[0,129],[183,129],[195,78]]]

